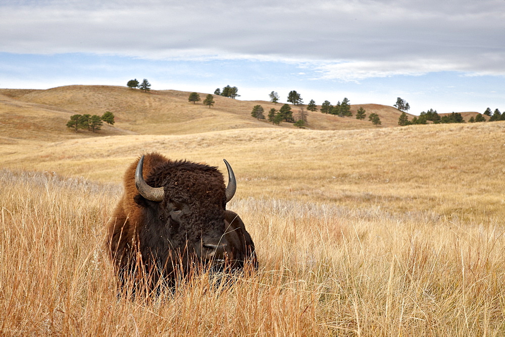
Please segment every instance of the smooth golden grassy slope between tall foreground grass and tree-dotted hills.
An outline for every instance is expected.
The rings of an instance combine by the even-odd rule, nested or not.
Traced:
[[[378,204],[395,211],[465,216],[501,213],[503,123],[445,124],[372,130],[242,129],[194,135],[133,135],[24,142],[1,148],[5,167],[55,171],[119,183],[146,151],[237,171],[238,194],[261,198]],[[486,200],[485,202],[483,202]]]

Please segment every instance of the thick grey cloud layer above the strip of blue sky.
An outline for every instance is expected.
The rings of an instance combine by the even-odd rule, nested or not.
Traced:
[[[505,1],[3,1],[2,51],[313,63],[323,78],[505,75]]]

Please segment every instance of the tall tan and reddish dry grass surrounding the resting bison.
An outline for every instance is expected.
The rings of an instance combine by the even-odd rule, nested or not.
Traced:
[[[0,171],[1,334],[505,333],[503,218],[238,199],[259,272],[131,301],[102,250],[120,193]]]

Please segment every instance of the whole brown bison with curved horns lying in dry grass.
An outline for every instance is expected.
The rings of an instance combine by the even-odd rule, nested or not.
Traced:
[[[244,223],[226,209],[236,180],[224,161],[226,187],[217,167],[159,153],[142,155],[130,165],[105,242],[120,289],[173,287],[180,276],[206,267],[235,271],[246,262],[258,267]]]

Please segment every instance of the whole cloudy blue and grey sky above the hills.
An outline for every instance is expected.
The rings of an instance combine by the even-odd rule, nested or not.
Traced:
[[[0,88],[122,85],[238,99],[505,110],[505,0],[2,0]]]

